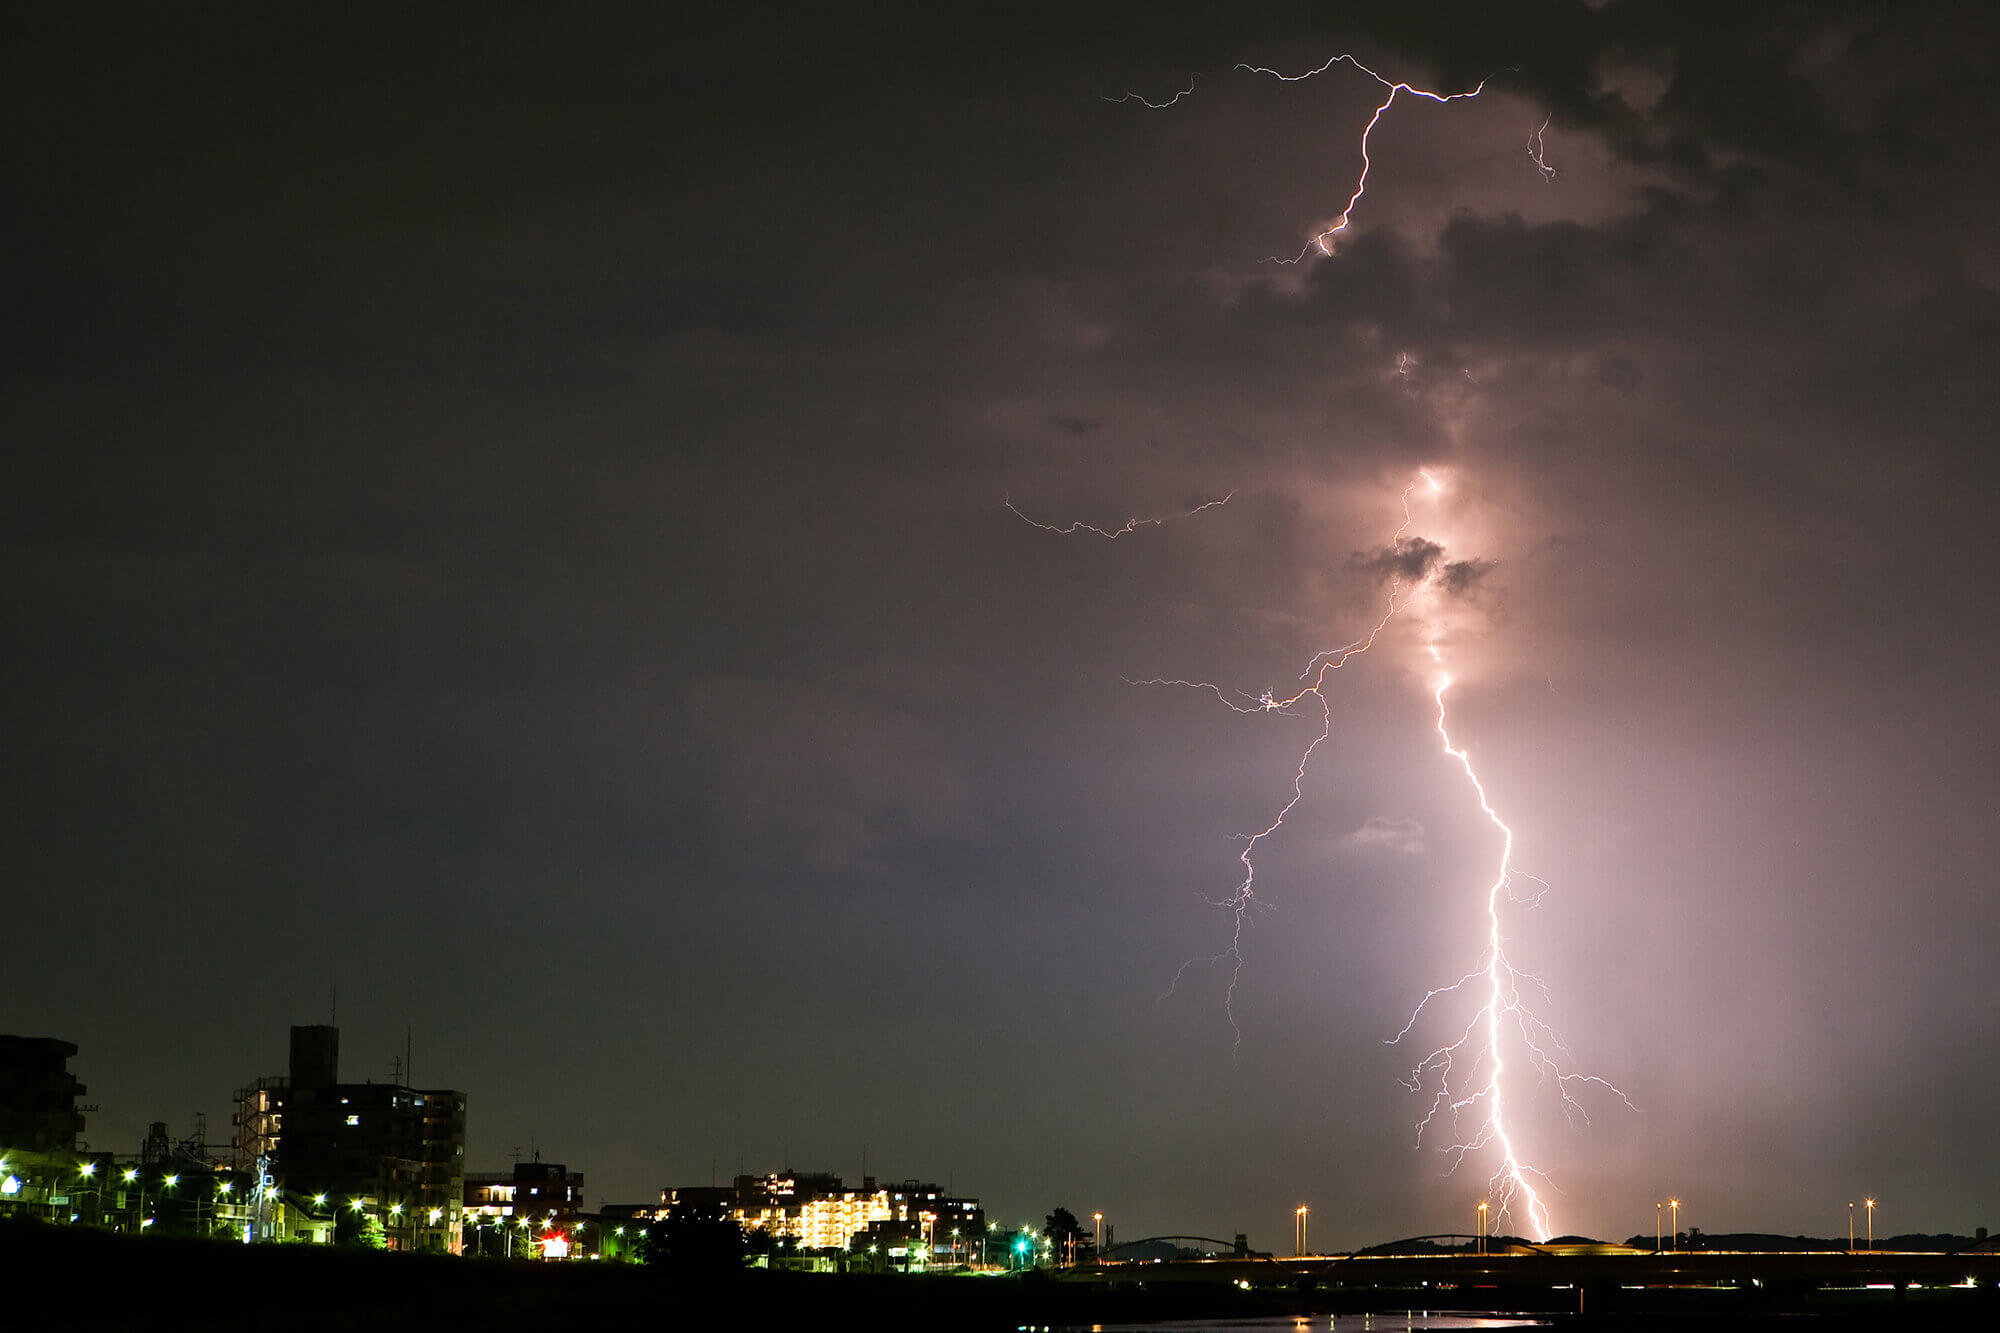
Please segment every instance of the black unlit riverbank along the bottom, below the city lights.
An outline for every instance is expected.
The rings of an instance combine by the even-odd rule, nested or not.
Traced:
[[[1106,1323],[1258,1319],[1364,1309],[1520,1309],[1568,1329],[1756,1327],[1808,1333],[2000,1327],[1990,1291],[1820,1293],[1778,1309],[1752,1293],[1646,1293],[1644,1307],[1578,1317],[1574,1293],[1376,1291],[1276,1285],[1242,1291],[1206,1283],[1066,1281],[1028,1275],[822,1275],[694,1265],[454,1259],[346,1247],[236,1245],[128,1237],[44,1223],[0,1225],[14,1309],[66,1327],[198,1327],[272,1319],[286,1333],[384,1327],[682,1329],[846,1327],[1088,1329]],[[1538,1299],[1530,1299],[1538,1297]],[[416,1321],[414,1325],[408,1321]],[[438,1321],[438,1323],[432,1323]],[[444,1321],[450,1321],[446,1325]],[[32,1327],[24,1323],[22,1327]]]

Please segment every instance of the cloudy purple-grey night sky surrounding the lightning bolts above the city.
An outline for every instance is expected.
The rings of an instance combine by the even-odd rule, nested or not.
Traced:
[[[1470,1231],[1398,1083],[1468,1001],[1386,1045],[1498,857],[1438,634],[1632,1103],[1510,1063],[1554,1227],[2000,1225],[1982,6],[418,8],[0,40],[0,1031],[92,1147],[338,987],[592,1203]],[[1232,66],[1340,52],[1488,82],[1266,262],[1382,86]],[[1328,681],[1238,1043],[1320,719],[1132,683],[1296,691],[1418,468],[1464,586]]]

